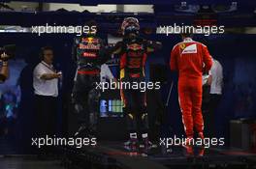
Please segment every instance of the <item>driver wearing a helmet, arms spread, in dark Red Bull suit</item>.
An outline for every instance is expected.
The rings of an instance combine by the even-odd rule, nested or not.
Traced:
[[[161,48],[161,42],[146,41],[139,37],[140,25],[137,18],[127,17],[121,27],[123,41],[115,44],[114,52],[120,55],[120,81],[144,82],[144,65],[147,54]],[[121,89],[121,99],[124,102],[124,113],[127,119],[130,139],[125,148],[136,151],[138,148],[137,121],[142,123],[142,138],[144,150],[150,148],[147,131],[147,112],[145,92],[140,89]]]

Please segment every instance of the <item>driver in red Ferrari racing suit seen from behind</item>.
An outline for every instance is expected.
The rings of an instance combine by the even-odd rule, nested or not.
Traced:
[[[194,137],[194,127],[198,136],[204,139],[202,117],[203,72],[210,70],[212,61],[208,47],[195,42],[190,34],[182,34],[183,42],[178,42],[171,53],[171,70],[178,71],[178,99],[182,122],[187,138]],[[189,146],[188,153],[192,149]]]

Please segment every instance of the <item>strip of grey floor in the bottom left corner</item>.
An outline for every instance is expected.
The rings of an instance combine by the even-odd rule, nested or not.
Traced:
[[[0,157],[1,169],[64,169],[60,161],[42,161],[33,158]]]

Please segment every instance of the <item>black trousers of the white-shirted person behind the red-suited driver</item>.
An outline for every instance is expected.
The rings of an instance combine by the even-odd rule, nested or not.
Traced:
[[[216,126],[215,126],[215,110],[217,109],[219,102],[221,100],[221,95],[210,94],[208,102],[208,111],[204,114],[204,126],[205,126],[205,136],[215,137],[216,136]]]

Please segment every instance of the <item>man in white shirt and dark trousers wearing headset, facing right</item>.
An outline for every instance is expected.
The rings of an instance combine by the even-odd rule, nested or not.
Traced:
[[[46,46],[41,51],[42,61],[33,71],[35,94],[36,136],[46,137],[55,133],[57,114],[58,78],[61,72],[52,66],[53,51]]]

